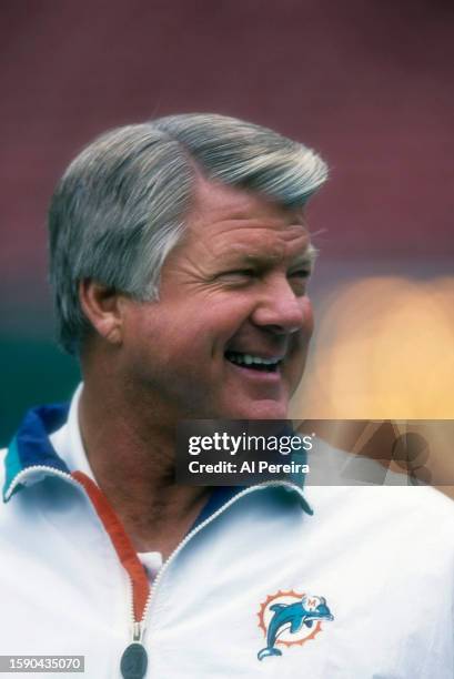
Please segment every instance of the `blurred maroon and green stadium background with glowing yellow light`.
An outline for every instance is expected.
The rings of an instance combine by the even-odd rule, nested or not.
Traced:
[[[3,0],[0,444],[70,396],[52,343],[46,211],[101,131],[180,111],[300,139],[317,332],[293,414],[454,418],[453,6],[437,0]]]

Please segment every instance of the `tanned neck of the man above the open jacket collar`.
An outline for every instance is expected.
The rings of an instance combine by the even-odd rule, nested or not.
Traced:
[[[87,379],[79,424],[94,478],[133,546],[167,557],[190,529],[209,490],[175,485],[175,424],[162,424],[158,404],[137,401],[128,391],[98,388]]]

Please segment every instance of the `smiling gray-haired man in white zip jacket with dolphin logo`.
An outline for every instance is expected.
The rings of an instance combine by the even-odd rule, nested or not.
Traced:
[[[180,420],[286,415],[325,179],[302,144],[202,114],[69,166],[51,281],[83,386],[6,455],[1,653],[84,656],[95,679],[452,677],[447,498],[174,483]]]

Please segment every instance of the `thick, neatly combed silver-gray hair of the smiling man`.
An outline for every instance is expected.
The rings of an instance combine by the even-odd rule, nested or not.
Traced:
[[[90,330],[80,281],[158,300],[161,267],[183,233],[198,174],[302,206],[327,169],[303,144],[219,114],[169,115],[99,136],[69,165],[49,211],[58,335],[69,353]]]

